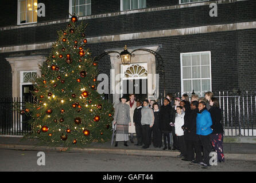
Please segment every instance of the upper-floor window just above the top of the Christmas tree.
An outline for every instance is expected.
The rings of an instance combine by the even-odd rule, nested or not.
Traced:
[[[91,0],[69,0],[69,12],[79,17],[91,15]]]

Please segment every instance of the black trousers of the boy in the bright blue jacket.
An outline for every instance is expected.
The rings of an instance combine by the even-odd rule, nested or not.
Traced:
[[[203,145],[203,162],[207,165],[210,165],[210,152],[212,152],[212,145],[210,140],[210,135],[208,136],[199,136],[201,144]]]

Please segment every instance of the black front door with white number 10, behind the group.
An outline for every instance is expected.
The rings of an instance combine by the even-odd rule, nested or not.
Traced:
[[[148,98],[148,79],[123,80],[123,94],[135,94],[136,100]]]

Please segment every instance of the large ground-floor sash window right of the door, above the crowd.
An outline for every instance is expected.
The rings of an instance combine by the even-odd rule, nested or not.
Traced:
[[[211,52],[181,53],[181,92],[199,96],[211,91]]]

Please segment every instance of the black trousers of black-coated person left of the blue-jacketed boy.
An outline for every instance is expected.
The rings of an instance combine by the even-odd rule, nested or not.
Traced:
[[[196,161],[202,162],[202,151],[201,151],[201,145],[200,141],[194,141],[194,140],[185,140],[186,148],[187,148],[187,160],[193,161],[195,160],[195,153],[196,153]]]

